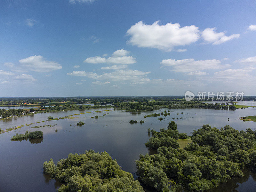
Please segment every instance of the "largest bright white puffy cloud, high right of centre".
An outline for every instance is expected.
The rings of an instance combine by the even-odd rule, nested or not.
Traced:
[[[159,25],[159,21],[146,25],[140,21],[127,30],[127,35],[131,36],[128,43],[132,45],[171,51],[175,46],[196,42],[200,38],[199,32],[198,27],[194,25],[185,27],[180,27],[179,23]]]

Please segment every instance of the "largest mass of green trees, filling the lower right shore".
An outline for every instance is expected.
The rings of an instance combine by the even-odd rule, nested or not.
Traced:
[[[173,180],[190,191],[202,192],[227,182],[231,177],[242,177],[241,169],[256,170],[256,132],[248,128],[237,131],[229,125],[221,129],[203,125],[193,132],[192,143],[179,149],[177,125],[154,131],[146,146],[157,154],[140,155],[136,161],[140,180],[158,191],[170,191]]]

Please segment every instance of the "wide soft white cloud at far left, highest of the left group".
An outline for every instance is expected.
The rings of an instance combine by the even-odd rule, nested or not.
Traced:
[[[47,61],[41,55],[30,56],[26,59],[19,60],[20,64],[28,67],[29,70],[37,72],[49,72],[61,69],[62,66],[55,61]]]

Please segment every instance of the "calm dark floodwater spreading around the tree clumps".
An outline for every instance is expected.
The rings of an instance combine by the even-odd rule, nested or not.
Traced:
[[[93,149],[95,152],[107,151],[116,159],[124,171],[132,172],[135,175],[135,160],[140,153],[152,153],[145,147],[145,142],[150,135],[147,129],[166,128],[167,124],[175,119],[179,132],[190,134],[194,129],[200,128],[203,124],[210,124],[217,128],[226,124],[237,130],[245,130],[250,127],[255,129],[256,122],[243,122],[240,116],[255,115],[256,108],[238,109],[236,111],[212,110],[212,109],[171,109],[171,116],[164,117],[158,121],[158,117],[143,118],[152,112],[141,112],[140,114],[126,113],[125,111],[94,112],[72,116],[69,119],[58,121],[42,122],[31,126],[24,126],[18,130],[0,134],[0,191],[1,192],[27,192],[27,191],[50,191],[56,192],[59,183],[51,180],[43,174],[43,163],[53,158],[55,164],[69,153],[84,153],[85,150]],[[34,116],[22,116],[9,120],[1,120],[2,129],[15,127],[22,124],[44,121],[48,116],[62,117],[81,112],[105,110],[91,109],[86,111],[66,111],[58,113],[40,113]],[[154,111],[162,112],[165,109]],[[168,110],[168,109],[166,109]],[[184,114],[181,115],[180,113]],[[109,113],[105,116],[103,114]],[[179,113],[179,115],[177,115]],[[98,115],[99,118],[91,118]],[[74,118],[76,117],[76,118]],[[162,117],[162,116],[161,116]],[[180,118],[181,117],[181,118]],[[229,121],[228,121],[229,118]],[[130,124],[129,121],[144,120],[143,124]],[[85,124],[81,127],[75,126],[79,121]],[[57,124],[53,127],[31,128],[32,126],[43,126]],[[72,126],[70,126],[70,124]],[[58,132],[55,132],[55,129]],[[21,140],[11,141],[10,138],[25,131],[42,130],[43,140]],[[243,178],[231,179],[227,184],[221,185],[211,192],[223,191],[255,191],[255,174],[246,172]]]

